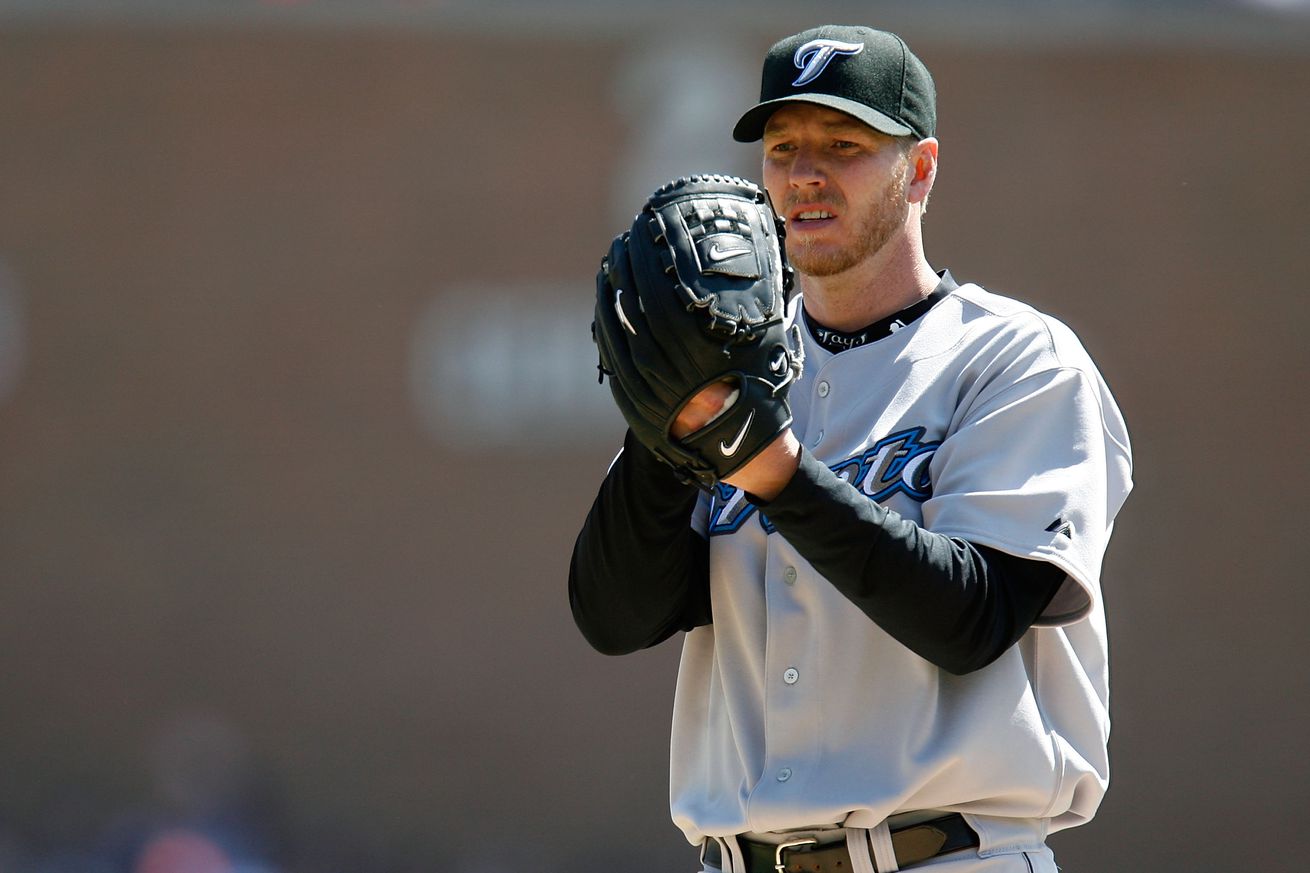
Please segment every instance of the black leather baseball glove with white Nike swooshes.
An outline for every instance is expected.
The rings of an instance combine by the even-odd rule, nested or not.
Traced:
[[[791,270],[782,220],[760,187],[730,176],[662,186],[596,275],[592,337],[601,379],[638,440],[685,481],[710,488],[791,423],[799,330],[785,321]],[[673,419],[702,388],[734,393],[677,439]]]

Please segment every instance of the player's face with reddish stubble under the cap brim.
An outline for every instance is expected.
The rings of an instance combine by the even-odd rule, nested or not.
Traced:
[[[764,185],[807,275],[844,273],[905,227],[908,172],[895,138],[834,109],[790,104],[764,130]]]

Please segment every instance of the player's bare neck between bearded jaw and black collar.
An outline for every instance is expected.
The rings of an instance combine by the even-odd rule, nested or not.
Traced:
[[[800,275],[806,311],[836,330],[858,330],[913,305],[937,287],[918,245],[887,246],[836,275]]]

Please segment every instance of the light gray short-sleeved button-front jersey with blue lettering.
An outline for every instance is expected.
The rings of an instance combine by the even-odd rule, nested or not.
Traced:
[[[793,319],[803,317],[796,301]],[[671,801],[686,838],[908,810],[1090,818],[1108,780],[1099,577],[1132,488],[1119,409],[1078,338],[965,284],[876,342],[833,355],[806,337],[791,391],[802,443],[924,527],[1066,574],[1000,659],[955,676],[884,633],[740,492],[710,537],[714,621],[684,641]]]

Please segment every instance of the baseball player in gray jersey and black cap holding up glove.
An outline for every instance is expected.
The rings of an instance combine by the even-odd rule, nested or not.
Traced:
[[[734,136],[762,142],[785,252],[748,258],[769,222],[727,220],[736,194],[700,177],[601,267],[629,433],[570,600],[604,653],[685,632],[671,806],[707,873],[1053,873],[1047,835],[1107,786],[1099,577],[1128,434],[1065,325],[929,265],[935,121],[895,34],[782,39]],[[724,303],[745,279],[766,291]],[[677,321],[706,309],[700,334]]]

